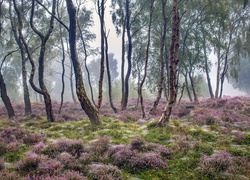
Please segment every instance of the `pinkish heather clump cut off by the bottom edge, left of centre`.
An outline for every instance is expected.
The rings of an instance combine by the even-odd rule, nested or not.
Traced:
[[[121,180],[122,172],[117,166],[93,164],[89,165],[89,178],[98,180]]]

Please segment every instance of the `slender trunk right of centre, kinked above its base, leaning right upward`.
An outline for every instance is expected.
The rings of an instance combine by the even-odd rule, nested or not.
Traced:
[[[142,78],[142,81],[140,83],[139,87],[139,95],[140,95],[140,102],[141,102],[141,110],[142,110],[142,118],[146,117],[145,110],[144,110],[144,104],[143,104],[143,96],[142,96],[142,86],[146,80],[147,77],[147,67],[148,67],[148,54],[149,54],[149,46],[150,46],[150,32],[151,32],[151,24],[152,24],[152,16],[153,16],[153,6],[154,6],[154,0],[151,0],[151,6],[150,6],[150,18],[149,18],[149,25],[148,25],[148,44],[146,49],[146,58],[145,58],[145,66],[144,66],[144,76]]]

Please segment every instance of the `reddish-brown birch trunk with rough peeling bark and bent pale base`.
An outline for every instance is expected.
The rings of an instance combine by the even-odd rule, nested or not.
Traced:
[[[169,100],[165,107],[158,126],[164,126],[166,121],[169,121],[172,108],[176,101],[177,96],[177,71],[179,63],[179,43],[180,43],[180,17],[178,12],[178,0],[173,0],[173,11],[172,11],[172,36],[169,47]]]

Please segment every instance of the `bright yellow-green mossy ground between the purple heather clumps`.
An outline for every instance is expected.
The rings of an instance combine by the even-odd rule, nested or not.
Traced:
[[[245,106],[243,109],[246,108]],[[141,136],[147,142],[162,144],[173,149],[173,155],[165,161],[168,168],[164,170],[140,170],[131,173],[127,169],[121,169],[124,179],[248,179],[250,170],[245,169],[237,176],[224,174],[223,176],[204,177],[199,172],[199,161],[204,155],[210,156],[218,150],[226,150],[232,156],[250,158],[250,131],[244,130],[245,138],[239,139],[228,134],[221,125],[193,125],[188,123],[189,115],[180,119],[171,119],[163,128],[155,127],[157,119],[148,120],[147,124],[137,125],[133,121],[123,122],[114,117],[102,116],[102,125],[91,127],[88,119],[76,121],[49,123],[44,117],[41,120],[25,120],[11,122],[0,119],[0,129],[6,127],[23,127],[28,131],[45,133],[47,141],[56,139],[82,139],[89,144],[102,136],[109,136],[112,145],[126,144],[134,136]],[[232,132],[233,129],[230,131]],[[243,132],[243,131],[242,131]],[[184,139],[180,139],[180,137]],[[186,139],[185,139],[186,138]],[[30,145],[23,144],[17,152],[0,154],[8,163],[18,161],[25,152],[29,151]],[[249,162],[248,162],[249,163]],[[12,171],[13,167],[9,166]]]

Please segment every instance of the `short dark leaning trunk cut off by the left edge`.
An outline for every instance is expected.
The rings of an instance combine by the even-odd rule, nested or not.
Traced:
[[[15,112],[14,112],[14,109],[11,105],[10,98],[7,94],[6,85],[5,85],[1,71],[0,71],[0,88],[1,88],[0,89],[1,90],[1,98],[3,100],[5,108],[7,109],[8,117],[9,117],[9,119],[11,119],[11,118],[15,117]]]

